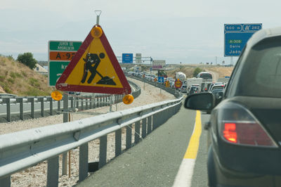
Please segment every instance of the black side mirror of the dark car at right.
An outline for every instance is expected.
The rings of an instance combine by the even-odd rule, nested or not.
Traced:
[[[192,110],[212,110],[215,101],[212,93],[196,93],[185,98],[184,107]]]

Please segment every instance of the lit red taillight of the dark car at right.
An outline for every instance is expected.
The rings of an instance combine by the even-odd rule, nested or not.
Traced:
[[[220,134],[224,141],[240,146],[277,148],[266,129],[247,108],[237,103],[226,104],[220,115]]]

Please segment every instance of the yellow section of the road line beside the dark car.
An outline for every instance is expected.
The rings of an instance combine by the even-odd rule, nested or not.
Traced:
[[[185,152],[184,159],[195,159],[199,148],[200,136],[202,131],[201,112],[196,111],[195,128],[188,144],[188,150]]]

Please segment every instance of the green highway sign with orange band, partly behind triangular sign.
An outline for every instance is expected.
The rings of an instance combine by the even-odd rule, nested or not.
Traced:
[[[82,41],[48,41],[48,85],[55,86]]]

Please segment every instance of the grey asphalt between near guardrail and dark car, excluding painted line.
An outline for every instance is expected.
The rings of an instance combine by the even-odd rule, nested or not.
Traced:
[[[112,160],[78,186],[173,186],[195,127],[193,110],[181,110],[138,145]],[[191,186],[207,186],[209,115],[202,113],[202,134]]]

